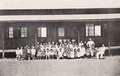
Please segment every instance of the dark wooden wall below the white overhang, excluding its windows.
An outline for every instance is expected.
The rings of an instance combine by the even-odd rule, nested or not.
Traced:
[[[88,36],[86,37],[86,24],[95,24],[101,25],[101,36]],[[109,27],[111,25],[110,30],[110,43],[111,45],[120,45],[120,22],[113,21],[111,23],[105,21],[84,21],[84,22],[2,22],[0,23],[0,49],[2,49],[2,31],[4,33],[4,47],[5,49],[16,49],[17,47],[25,46],[25,45],[35,45],[35,39],[38,42],[58,42],[59,39],[75,39],[77,42],[79,41],[88,41],[89,38],[92,38],[96,43],[96,46],[100,46],[101,44],[105,44],[108,46],[108,36],[109,36]],[[2,26],[3,25],[3,26]],[[14,38],[8,38],[8,28],[14,27]],[[27,27],[26,38],[21,38],[21,27]],[[38,27],[47,27],[47,37],[35,37],[37,35]],[[65,29],[65,36],[58,36],[58,28]]]

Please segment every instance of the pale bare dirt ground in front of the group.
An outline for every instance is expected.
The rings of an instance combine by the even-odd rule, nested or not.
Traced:
[[[97,59],[0,59],[0,76],[120,76],[120,56]]]

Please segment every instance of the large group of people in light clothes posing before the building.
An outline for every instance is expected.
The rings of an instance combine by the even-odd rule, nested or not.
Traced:
[[[105,46],[102,44],[100,48],[94,48],[95,43],[89,39],[84,44],[82,41],[77,45],[71,42],[64,43],[44,43],[37,46],[28,46],[17,48],[16,58],[19,56],[23,59],[74,59],[74,58],[90,58],[95,55],[97,59],[103,58]],[[99,57],[100,56],[100,57]]]

